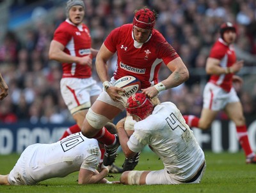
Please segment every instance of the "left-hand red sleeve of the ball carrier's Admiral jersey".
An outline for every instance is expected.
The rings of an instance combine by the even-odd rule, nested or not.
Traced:
[[[116,52],[116,43],[118,43],[119,34],[120,27],[117,27],[116,29],[113,29],[113,31],[111,31],[108,37],[105,39],[104,45],[108,48],[110,52]]]

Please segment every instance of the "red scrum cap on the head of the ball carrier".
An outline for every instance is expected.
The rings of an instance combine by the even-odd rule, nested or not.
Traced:
[[[133,18],[133,25],[140,27],[142,29],[154,29],[156,23],[156,13],[149,10],[148,8],[143,8],[136,11]]]

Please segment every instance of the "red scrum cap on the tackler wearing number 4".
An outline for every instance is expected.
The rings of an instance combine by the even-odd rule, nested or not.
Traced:
[[[152,113],[154,106],[145,94],[136,93],[127,100],[126,110],[128,113],[137,115],[141,120],[143,120]]]

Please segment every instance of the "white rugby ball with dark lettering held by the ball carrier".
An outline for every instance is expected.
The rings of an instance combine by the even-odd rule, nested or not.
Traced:
[[[125,90],[125,92],[118,92],[118,94],[129,97],[140,90],[141,83],[140,80],[134,76],[123,76],[116,80],[114,86]]]

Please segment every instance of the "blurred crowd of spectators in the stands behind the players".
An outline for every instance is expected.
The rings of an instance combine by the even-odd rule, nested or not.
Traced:
[[[237,27],[237,58],[253,69],[256,64],[255,0],[84,0],[93,48],[100,48],[109,32],[131,23],[134,10],[147,6],[159,13],[156,22],[166,40],[175,48],[189,69],[190,78],[174,89],[161,92],[161,101],[172,101],[182,113],[200,115],[202,90],[207,81],[205,61],[219,36],[218,27],[230,21]],[[54,17],[34,20],[22,38],[6,32],[0,45],[0,71],[9,86],[9,96],[0,103],[0,122],[30,121],[35,124],[73,121],[60,94],[61,64],[49,61],[48,50],[56,27],[65,20],[65,4],[56,6]],[[169,75],[164,64],[162,80]],[[109,76],[115,69],[115,58],[109,62]],[[246,116],[255,116],[256,84],[254,74],[250,89],[236,86]],[[101,82],[94,69],[93,78]],[[225,118],[221,114],[220,118]]]

